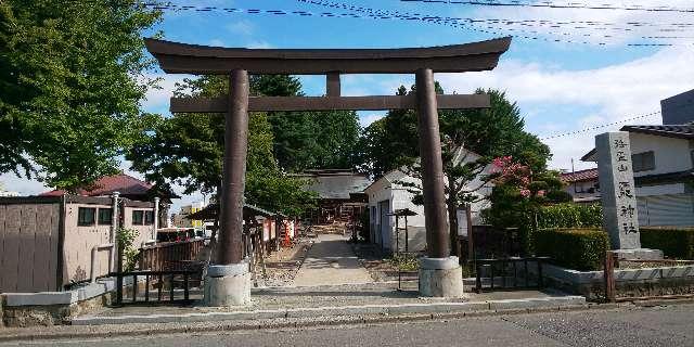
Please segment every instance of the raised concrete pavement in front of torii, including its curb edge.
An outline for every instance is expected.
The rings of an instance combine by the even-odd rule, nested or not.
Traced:
[[[466,298],[419,297],[415,291],[397,291],[393,284],[277,287],[253,291],[253,305],[237,308],[204,306],[126,306],[73,319],[73,325],[128,323],[248,321],[260,319],[344,316],[386,317],[494,312],[498,310],[558,309],[586,306],[581,296],[558,292],[499,292],[468,294]]]

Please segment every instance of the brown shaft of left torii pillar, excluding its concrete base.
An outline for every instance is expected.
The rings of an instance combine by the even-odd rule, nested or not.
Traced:
[[[243,259],[243,193],[248,145],[248,73],[231,72],[229,113],[224,131],[224,162],[219,232],[219,265]]]

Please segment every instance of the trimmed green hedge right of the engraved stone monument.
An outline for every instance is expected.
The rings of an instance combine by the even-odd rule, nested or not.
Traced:
[[[660,249],[668,258],[694,259],[694,228],[641,228],[641,246]]]

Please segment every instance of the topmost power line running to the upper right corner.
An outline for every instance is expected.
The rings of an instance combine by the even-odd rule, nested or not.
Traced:
[[[543,8],[543,9],[583,9],[583,10],[618,10],[618,11],[644,11],[644,12],[677,12],[677,13],[694,13],[694,8],[673,8],[673,7],[641,7],[637,4],[613,5],[613,4],[588,4],[588,3],[555,3],[555,2],[492,2],[492,1],[462,1],[462,0],[400,0],[401,2],[423,2],[423,3],[442,3],[442,4],[467,4],[479,7],[500,7],[500,8]]]

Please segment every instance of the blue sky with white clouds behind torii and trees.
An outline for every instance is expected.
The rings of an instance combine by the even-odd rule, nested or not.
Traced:
[[[659,110],[664,98],[694,88],[694,26],[672,26],[671,23],[694,23],[694,13],[650,13],[640,11],[556,10],[530,8],[491,8],[446,3],[401,2],[398,0],[344,0],[332,3],[355,4],[372,10],[416,13],[420,16],[464,18],[503,18],[505,23],[481,23],[467,28],[450,27],[421,20],[374,20],[368,17],[325,17],[361,12],[311,4],[298,0],[174,0],[177,4],[234,8],[243,11],[166,11],[156,28],[172,41],[246,48],[398,48],[457,44],[501,36],[514,37],[510,51],[497,69],[485,73],[436,75],[447,92],[470,93],[477,87],[506,91],[518,103],[528,131],[547,138],[555,133],[576,131],[596,125],[619,121]],[[331,1],[316,0],[327,3]],[[525,2],[531,2],[526,0]],[[555,0],[567,2],[567,0]],[[604,3],[604,0],[586,0]],[[643,7],[692,7],[691,0],[627,0],[614,3],[639,3]],[[278,15],[249,13],[247,10],[306,11],[313,15]],[[250,11],[253,12],[253,11]],[[531,23],[523,26],[510,20],[573,22],[558,27]],[[586,21],[600,24],[586,25]],[[644,22],[634,27],[626,23]],[[489,27],[493,28],[489,28]],[[472,28],[472,29],[471,29]],[[621,30],[620,28],[629,28]],[[480,33],[492,31],[492,33]],[[643,39],[650,36],[674,39]],[[517,36],[531,36],[526,39]],[[609,36],[609,37],[604,37]],[[555,42],[554,40],[561,40]],[[567,41],[587,41],[570,43]],[[606,44],[601,46],[599,42]],[[629,47],[629,43],[672,43],[672,47]],[[176,81],[184,76],[166,76],[160,70],[151,76],[164,77],[162,89],[152,90],[142,108],[167,114],[168,98]],[[301,77],[309,95],[324,93],[323,77]],[[343,93],[347,95],[391,94],[400,85],[410,86],[408,75],[351,75],[343,77]],[[382,117],[383,113],[362,112],[362,125]],[[641,118],[630,124],[657,124],[658,116]],[[551,166],[570,169],[589,167],[578,158],[592,149],[596,133],[616,130],[620,126],[601,128],[577,136],[547,140],[554,154]],[[124,169],[127,169],[124,163]],[[137,176],[137,174],[134,174]],[[41,183],[0,176],[0,182],[11,191],[36,194],[46,188]],[[198,196],[187,197],[185,201]],[[177,204],[178,205],[178,204]]]

